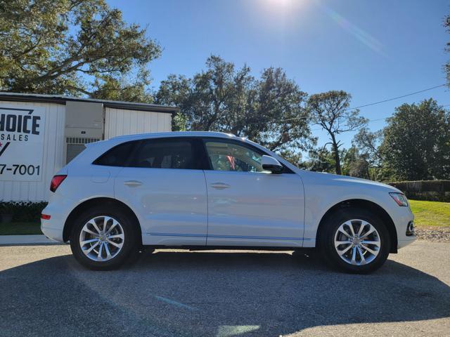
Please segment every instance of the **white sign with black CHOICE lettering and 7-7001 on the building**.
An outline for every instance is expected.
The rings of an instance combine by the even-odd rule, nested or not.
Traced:
[[[0,181],[40,181],[44,107],[0,104]]]

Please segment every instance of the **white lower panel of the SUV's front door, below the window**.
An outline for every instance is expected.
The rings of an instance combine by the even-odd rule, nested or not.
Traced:
[[[304,192],[296,174],[205,171],[207,244],[302,246]],[[226,188],[214,188],[223,184]]]

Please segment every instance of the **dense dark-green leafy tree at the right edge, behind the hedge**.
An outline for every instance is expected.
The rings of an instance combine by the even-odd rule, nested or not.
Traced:
[[[450,116],[435,100],[397,107],[383,133],[380,152],[394,178],[450,178]]]

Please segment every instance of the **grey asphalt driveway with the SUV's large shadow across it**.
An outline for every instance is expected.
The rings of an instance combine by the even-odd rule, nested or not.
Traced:
[[[372,275],[312,253],[143,253],[112,272],[68,246],[0,247],[1,336],[449,336],[450,244],[415,242]]]

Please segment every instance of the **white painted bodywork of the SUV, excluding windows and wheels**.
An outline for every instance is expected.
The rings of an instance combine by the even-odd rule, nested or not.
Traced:
[[[101,154],[129,140],[167,137],[220,138],[258,147],[293,173],[271,174],[184,169],[97,166]],[[349,199],[372,201],[395,225],[398,248],[413,242],[406,226],[409,207],[398,206],[396,188],[370,180],[297,169],[250,140],[225,133],[176,132],[120,136],[92,143],[57,174],[67,174],[51,193],[41,220],[47,237],[65,241],[65,222],[84,201],[108,197],[127,204],[141,225],[143,244],[181,246],[314,247],[319,223],[334,205]],[[134,184],[133,182],[138,182]]]

